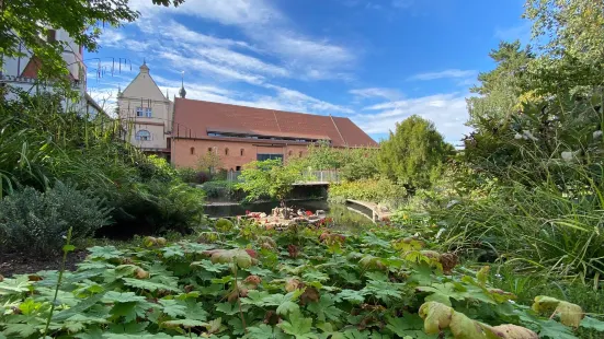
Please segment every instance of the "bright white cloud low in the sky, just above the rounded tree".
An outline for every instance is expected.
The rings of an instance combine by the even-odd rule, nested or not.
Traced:
[[[460,93],[386,102],[365,107],[364,110],[372,113],[353,116],[352,120],[367,133],[387,133],[395,129],[396,122],[414,114],[433,121],[445,140],[454,144],[470,132],[470,128],[464,125],[468,113],[465,95]]]

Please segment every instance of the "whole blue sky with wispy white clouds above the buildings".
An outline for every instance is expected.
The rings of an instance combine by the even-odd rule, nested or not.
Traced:
[[[145,58],[170,97],[184,71],[189,98],[350,117],[376,140],[418,114],[459,144],[488,52],[529,36],[522,0],[130,3],[141,17],[106,28],[84,57],[96,101],[111,106]]]

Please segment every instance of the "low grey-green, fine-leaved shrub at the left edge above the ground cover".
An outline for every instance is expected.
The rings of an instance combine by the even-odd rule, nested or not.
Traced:
[[[73,239],[81,239],[109,224],[110,210],[102,204],[90,191],[61,183],[46,192],[26,187],[0,201],[0,245],[32,255],[54,254],[69,227]]]

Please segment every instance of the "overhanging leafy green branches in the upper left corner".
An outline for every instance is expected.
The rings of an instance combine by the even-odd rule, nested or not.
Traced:
[[[184,2],[151,1],[163,5]],[[43,79],[68,85],[67,63],[61,55],[69,46],[59,40],[45,42],[41,36],[52,28],[62,28],[77,44],[95,51],[102,26],[119,26],[138,16],[128,0],[0,0],[0,57],[24,56],[24,50],[29,50],[39,59]]]

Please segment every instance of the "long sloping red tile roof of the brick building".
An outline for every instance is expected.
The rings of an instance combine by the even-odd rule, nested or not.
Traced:
[[[172,138],[220,139],[208,132],[331,140],[334,147],[378,147],[349,118],[178,97]],[[239,139],[241,140],[241,139]]]

